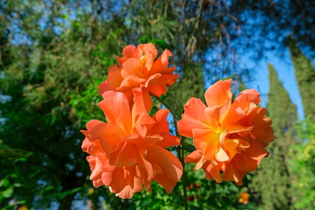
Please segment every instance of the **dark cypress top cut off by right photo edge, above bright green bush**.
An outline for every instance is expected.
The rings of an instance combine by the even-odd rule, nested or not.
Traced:
[[[305,117],[315,119],[315,71],[314,66],[301,50],[295,40],[289,37],[288,46],[295,69],[295,77],[302,98]]]

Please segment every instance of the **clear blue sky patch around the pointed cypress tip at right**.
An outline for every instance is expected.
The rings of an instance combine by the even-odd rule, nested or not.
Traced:
[[[265,107],[266,102],[268,101],[267,94],[269,91],[269,72],[267,63],[270,63],[275,67],[278,79],[289,93],[292,103],[296,105],[299,119],[304,119],[302,100],[295,80],[294,67],[288,50],[286,50],[281,57],[275,52],[267,53],[267,58],[262,59],[256,64],[254,82],[248,84],[248,88],[255,88],[262,94],[262,106]]]

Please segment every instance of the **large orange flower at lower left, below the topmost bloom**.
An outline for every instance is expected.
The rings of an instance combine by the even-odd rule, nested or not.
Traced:
[[[127,97],[107,91],[99,106],[108,122],[91,120],[82,149],[90,154],[91,176],[95,187],[106,185],[121,198],[131,198],[144,188],[150,191],[152,180],[168,193],[182,176],[183,166],[165,147],[180,144],[170,135],[166,120],[169,110],[160,109],[150,117],[145,109],[141,88],[132,90],[135,99],[130,111]]]

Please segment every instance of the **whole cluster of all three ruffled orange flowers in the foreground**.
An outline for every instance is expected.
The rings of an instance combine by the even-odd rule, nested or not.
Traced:
[[[207,105],[191,98],[182,119],[175,120],[178,133],[193,137],[196,150],[180,161],[166,149],[184,148],[179,136],[170,134],[170,110],[160,109],[152,117],[148,111],[151,95],[165,95],[178,79],[175,67],[167,67],[171,55],[166,49],[155,60],[153,44],[128,45],[122,57],[117,56],[119,67],[108,68],[107,80],[98,86],[107,122],[91,120],[82,130],[82,149],[90,155],[95,187],[106,185],[116,196],[131,198],[143,188],[151,191],[154,180],[170,193],[185,163],[195,163],[194,170],[202,168],[209,180],[242,185],[245,175],[268,156],[265,147],[274,136],[266,109],[258,106],[260,94],[245,90],[232,102],[231,80],[219,81],[205,92]]]

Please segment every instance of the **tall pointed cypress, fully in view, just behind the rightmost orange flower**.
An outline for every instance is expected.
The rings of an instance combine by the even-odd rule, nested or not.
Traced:
[[[295,144],[294,124],[296,107],[277,78],[276,71],[268,64],[270,89],[267,115],[272,119],[275,141],[267,150],[269,157],[263,160],[253,177],[253,188],[261,207],[268,210],[294,209],[295,194],[291,182],[295,179],[289,171],[289,148]]]

